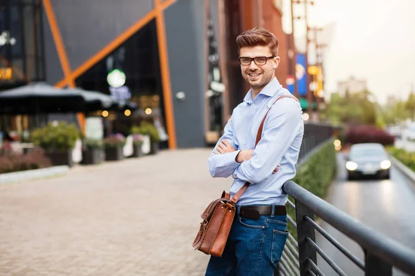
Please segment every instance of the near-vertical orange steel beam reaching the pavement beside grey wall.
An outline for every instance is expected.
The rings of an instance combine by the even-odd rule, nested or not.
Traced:
[[[163,99],[166,115],[167,134],[169,135],[169,149],[177,148],[176,130],[174,126],[174,110],[172,101],[172,86],[170,83],[169,57],[167,54],[167,39],[164,14],[160,0],[154,1],[156,7],[156,30],[158,41],[158,56],[160,57],[161,82],[163,83]]]

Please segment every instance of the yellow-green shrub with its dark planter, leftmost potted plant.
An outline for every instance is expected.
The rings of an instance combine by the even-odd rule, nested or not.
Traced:
[[[75,124],[66,121],[48,123],[32,132],[33,144],[45,150],[53,166],[73,166],[72,150],[80,133]]]

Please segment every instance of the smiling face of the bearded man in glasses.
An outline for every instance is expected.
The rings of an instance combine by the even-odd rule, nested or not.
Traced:
[[[243,47],[239,50],[239,57],[242,63],[244,63],[244,57],[252,59],[255,57],[268,57],[263,65],[258,65],[253,60],[248,65],[241,64],[242,77],[248,81],[251,88],[264,88],[275,76],[274,71],[278,67],[279,57],[272,56],[273,54],[271,54],[268,46]],[[245,59],[245,61],[248,61],[248,59]],[[257,63],[264,63],[264,59],[257,59]]]

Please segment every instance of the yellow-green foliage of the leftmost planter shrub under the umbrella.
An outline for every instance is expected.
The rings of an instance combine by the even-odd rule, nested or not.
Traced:
[[[66,152],[74,148],[79,137],[80,132],[75,124],[67,124],[66,121],[57,124],[49,123],[32,132],[32,141],[35,145],[57,152]]]

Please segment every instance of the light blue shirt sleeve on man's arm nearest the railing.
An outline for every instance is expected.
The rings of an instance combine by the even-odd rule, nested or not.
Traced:
[[[258,184],[273,173],[304,124],[299,104],[293,99],[279,100],[268,113],[265,124],[252,158],[234,170],[234,179]]]

